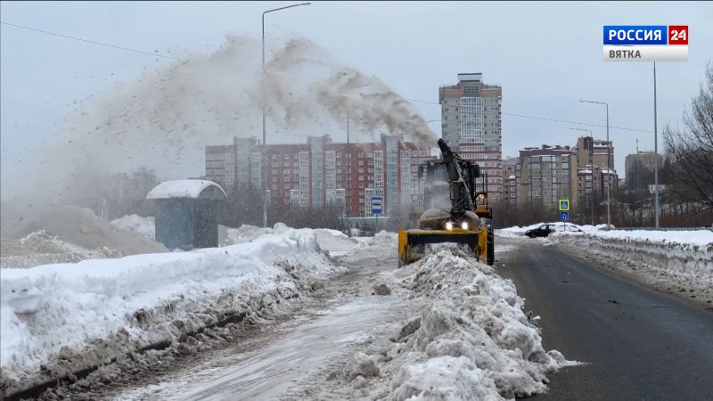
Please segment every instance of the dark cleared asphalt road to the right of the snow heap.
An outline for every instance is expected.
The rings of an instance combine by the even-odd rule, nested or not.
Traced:
[[[541,317],[545,349],[586,363],[537,399],[713,399],[713,313],[540,241],[497,242],[516,244],[496,266]]]

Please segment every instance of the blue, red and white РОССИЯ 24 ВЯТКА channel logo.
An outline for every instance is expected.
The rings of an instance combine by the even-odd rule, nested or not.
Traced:
[[[688,25],[604,25],[604,61],[688,61]]]

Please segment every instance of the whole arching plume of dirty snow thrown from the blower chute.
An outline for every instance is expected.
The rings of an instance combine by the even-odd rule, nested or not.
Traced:
[[[264,87],[258,41],[229,36],[213,53],[184,55],[94,94],[42,151],[31,190],[86,204],[111,192],[108,177],[116,173],[148,168],[160,179],[201,176],[204,146],[234,136],[261,139],[263,93],[268,143],[341,134],[347,115],[354,142],[385,133],[436,143],[414,106],[379,79],[340,65],[304,38],[271,47],[278,50],[267,54]]]

